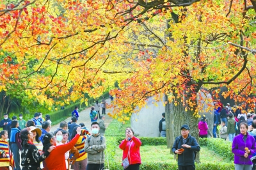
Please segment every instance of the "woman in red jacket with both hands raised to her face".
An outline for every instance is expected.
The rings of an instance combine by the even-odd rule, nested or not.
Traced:
[[[123,150],[123,158],[129,161],[129,166],[125,170],[139,170],[141,164],[140,158],[140,146],[141,141],[137,137],[133,136],[134,132],[131,128],[126,128],[125,139],[119,145],[119,148]],[[124,165],[123,165],[124,166]]]

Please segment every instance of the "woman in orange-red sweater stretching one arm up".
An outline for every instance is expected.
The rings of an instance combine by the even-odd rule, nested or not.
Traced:
[[[66,169],[65,164],[65,153],[73,148],[76,144],[77,140],[79,139],[81,134],[81,128],[78,127],[77,135],[67,144],[61,144],[56,146],[56,137],[52,135],[52,133],[47,133],[44,136],[44,149],[43,151],[47,151],[52,145],[56,146],[54,150],[49,154],[47,158],[45,158],[45,167],[44,170],[64,170]]]

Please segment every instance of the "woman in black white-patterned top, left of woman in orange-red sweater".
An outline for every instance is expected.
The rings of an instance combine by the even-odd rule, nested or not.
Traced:
[[[55,146],[49,147],[44,153],[40,154],[35,144],[33,144],[33,133],[29,128],[24,128],[20,131],[22,139],[21,151],[21,166],[22,170],[38,170],[40,169],[40,162],[54,150]]]

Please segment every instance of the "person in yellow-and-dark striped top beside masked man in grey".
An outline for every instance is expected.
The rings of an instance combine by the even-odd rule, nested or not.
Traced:
[[[76,129],[77,127],[73,129],[71,139],[75,137]],[[88,130],[82,129],[81,134],[79,135],[80,137],[75,144],[75,148],[79,151],[79,157],[76,159],[76,162],[71,166],[71,169],[74,169],[74,170],[86,169],[86,166],[87,166],[88,155],[84,151],[84,143],[86,138],[90,136],[90,132]]]

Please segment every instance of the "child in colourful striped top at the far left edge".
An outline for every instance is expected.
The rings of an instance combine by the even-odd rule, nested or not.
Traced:
[[[9,157],[9,144],[6,141],[8,139],[8,133],[6,130],[0,132],[0,169],[8,170],[10,166],[10,157]]]

